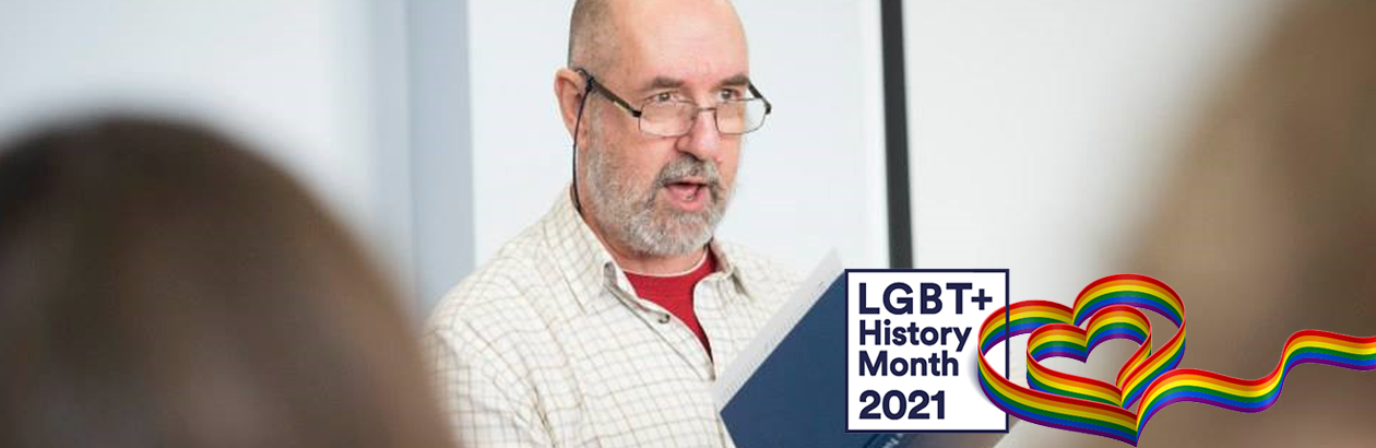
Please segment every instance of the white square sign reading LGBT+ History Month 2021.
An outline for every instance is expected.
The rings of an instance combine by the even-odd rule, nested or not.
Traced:
[[[999,411],[988,398],[984,397],[984,391],[980,390],[978,375],[980,375],[980,325],[984,320],[992,314],[995,310],[1002,309],[1010,299],[1006,284],[1007,274],[1004,273],[919,273],[919,272],[878,272],[878,273],[848,273],[846,278],[846,400],[849,400],[846,409],[846,429],[848,430],[878,430],[878,431],[916,431],[916,430],[988,430],[988,431],[1003,431],[1007,430],[1007,418],[1003,411]],[[893,314],[883,306],[883,292],[889,285],[894,283],[904,283],[912,288],[912,294],[904,294],[903,291],[894,291],[890,298],[910,298],[912,301],[911,314]],[[878,307],[879,314],[860,314],[860,283],[866,283],[864,305],[867,307]],[[941,310],[934,314],[921,313],[921,296],[922,284],[934,283],[940,285],[941,295]],[[948,283],[969,283],[973,285],[971,289],[962,294],[962,309],[956,314],[956,299],[955,291],[945,289]],[[974,298],[984,289],[984,295],[992,298],[993,301],[984,305],[984,310],[980,310],[970,298]],[[893,302],[894,306],[901,306],[899,302]],[[956,352],[959,347],[959,340],[951,334],[947,343],[937,342],[936,345],[923,343],[910,343],[903,346],[885,345],[875,346],[874,336],[864,338],[866,343],[860,342],[860,324],[866,324],[866,328],[874,328],[875,321],[889,320],[889,328],[908,327],[908,324],[916,324],[918,328],[945,328],[952,327],[959,331],[969,328],[970,334],[966,338],[965,347]],[[914,335],[915,336],[915,335]],[[882,335],[881,335],[882,338]],[[910,339],[912,336],[908,336]],[[890,371],[888,376],[871,376],[860,375],[860,352],[866,352],[872,361],[879,356],[881,352],[888,352],[889,360],[894,358],[929,358],[933,353],[940,353],[945,350],[947,356],[956,358],[959,363],[959,375],[949,375],[949,372],[943,371],[943,376],[932,375],[934,369],[927,365],[927,374],[922,375],[921,365],[912,364],[912,371],[907,375],[893,375]],[[996,369],[1004,369],[1003,350],[991,350],[989,363]],[[992,357],[996,356],[996,357]],[[930,358],[929,358],[930,361]],[[915,372],[914,372],[915,371]],[[911,412],[912,405],[916,401],[910,401],[907,405],[907,412],[904,412],[903,419],[889,419],[883,414],[885,401],[881,400],[881,405],[874,411],[879,414],[879,419],[860,419],[860,411],[864,409],[872,401],[861,401],[860,393],[864,390],[875,390],[879,393],[881,398],[890,390],[899,390],[907,397],[914,390],[923,390],[929,396],[938,391],[944,391],[944,405],[945,418],[937,419],[937,405],[936,403],[927,403],[927,407],[922,409],[929,415],[929,419],[908,419],[907,414]],[[897,398],[892,400],[890,411],[897,411]],[[921,401],[921,400],[918,400]]]

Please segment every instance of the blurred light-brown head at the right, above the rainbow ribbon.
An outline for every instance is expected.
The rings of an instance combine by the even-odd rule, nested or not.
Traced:
[[[1134,261],[1192,318],[1258,313],[1266,352],[1302,327],[1376,334],[1372,43],[1376,1],[1295,3],[1208,103]]]

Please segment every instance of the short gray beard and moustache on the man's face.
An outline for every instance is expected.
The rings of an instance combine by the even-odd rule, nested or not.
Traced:
[[[682,154],[655,176],[649,187],[637,190],[621,175],[625,167],[607,157],[604,149],[588,147],[588,200],[593,215],[608,237],[638,255],[671,256],[696,251],[711,241],[727,212],[731,190],[721,185],[717,165]],[[684,176],[702,176],[711,204],[699,212],[660,207],[659,190]]]

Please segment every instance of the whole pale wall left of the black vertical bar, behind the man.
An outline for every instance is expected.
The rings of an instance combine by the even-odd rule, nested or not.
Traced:
[[[747,139],[721,234],[799,273],[832,247],[885,266],[878,4],[779,6],[738,7],[776,108]],[[424,316],[568,182],[552,80],[570,8],[6,1],[0,141],[102,110],[228,131],[321,194]]]

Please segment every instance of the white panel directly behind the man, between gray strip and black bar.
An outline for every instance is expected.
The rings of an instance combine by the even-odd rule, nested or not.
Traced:
[[[553,95],[572,1],[469,10],[477,262],[535,222],[570,179]],[[810,269],[831,247],[885,266],[878,3],[738,1],[751,79],[775,103],[747,138],[718,234]]]

